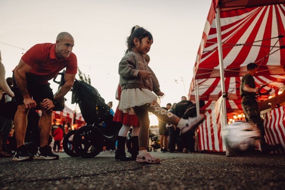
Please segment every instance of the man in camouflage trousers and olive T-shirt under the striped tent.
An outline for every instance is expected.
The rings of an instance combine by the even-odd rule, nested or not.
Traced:
[[[269,145],[265,142],[265,129],[263,121],[260,117],[260,111],[258,108],[258,103],[255,99],[257,93],[260,92],[260,87],[255,87],[255,82],[253,76],[257,73],[257,64],[250,63],[247,65],[247,74],[241,79],[240,94],[243,98],[241,101],[241,107],[243,108],[243,113],[245,114],[245,119],[251,124],[256,124],[260,130],[260,146],[262,154],[268,154],[280,148],[280,144]]]

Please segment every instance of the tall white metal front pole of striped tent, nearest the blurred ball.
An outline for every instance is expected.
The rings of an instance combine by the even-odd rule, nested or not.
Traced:
[[[225,77],[224,77],[224,63],[223,63],[223,48],[222,48],[222,35],[221,35],[221,22],[220,22],[220,8],[219,4],[217,5],[216,9],[216,27],[217,27],[217,42],[218,42],[218,52],[219,52],[219,66],[220,66],[220,76],[221,76],[221,90],[222,90],[222,102],[223,102],[223,112],[224,112],[224,119],[225,122],[221,127],[222,129],[225,128],[227,123],[227,109],[226,109],[226,90],[225,90]],[[223,138],[223,144],[224,138]],[[226,147],[226,156],[229,156],[231,153]]]

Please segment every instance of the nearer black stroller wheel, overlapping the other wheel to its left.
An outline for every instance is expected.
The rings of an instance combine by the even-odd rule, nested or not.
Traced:
[[[82,158],[93,158],[103,149],[104,136],[95,126],[86,125],[73,136],[73,148]]]

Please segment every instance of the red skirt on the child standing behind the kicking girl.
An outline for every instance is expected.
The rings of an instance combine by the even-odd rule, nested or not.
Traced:
[[[137,115],[129,115],[128,113],[123,113],[123,111],[119,110],[118,107],[116,109],[113,121],[117,121],[123,124],[133,125],[136,127],[141,126],[141,123],[139,122]]]

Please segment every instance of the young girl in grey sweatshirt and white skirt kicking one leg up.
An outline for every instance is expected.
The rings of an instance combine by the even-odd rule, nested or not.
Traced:
[[[143,57],[149,52],[152,42],[153,38],[150,32],[140,26],[132,28],[131,35],[127,38],[128,49],[119,63],[120,86],[122,88],[119,110],[122,110],[123,113],[129,113],[133,108],[141,123],[139,155],[137,155],[136,161],[157,164],[160,159],[152,157],[147,152],[150,123],[148,111],[154,113],[158,119],[174,124],[181,129],[191,130],[198,125],[198,122],[191,120],[189,123],[188,119],[180,120],[180,118],[162,109],[156,103],[156,95],[163,96],[164,93],[160,91],[158,80]]]

